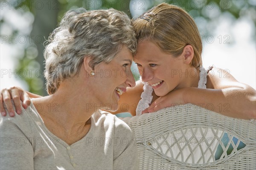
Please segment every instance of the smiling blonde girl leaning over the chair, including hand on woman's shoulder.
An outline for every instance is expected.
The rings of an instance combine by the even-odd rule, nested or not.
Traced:
[[[112,113],[140,115],[192,103],[234,118],[256,118],[256,91],[252,87],[236,81],[224,69],[202,66],[201,37],[185,10],[161,3],[133,20],[133,25],[138,43],[134,62],[141,80],[122,94],[119,109]],[[29,96],[17,87],[3,89],[1,94],[1,102],[4,98],[8,106],[10,95],[16,104],[20,99],[23,105],[29,104]]]

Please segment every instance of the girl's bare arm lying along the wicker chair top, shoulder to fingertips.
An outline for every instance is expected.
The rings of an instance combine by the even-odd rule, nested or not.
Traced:
[[[187,87],[173,90],[154,101],[145,112],[192,103],[233,118],[256,118],[256,91],[238,82],[223,69],[213,68],[207,77],[207,89]]]

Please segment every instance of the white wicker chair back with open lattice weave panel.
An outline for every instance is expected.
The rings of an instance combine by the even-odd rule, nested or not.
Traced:
[[[192,104],[122,120],[134,132],[139,169],[256,169],[256,120],[230,118]]]

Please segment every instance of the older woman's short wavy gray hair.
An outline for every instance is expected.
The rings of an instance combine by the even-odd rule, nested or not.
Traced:
[[[70,10],[48,39],[44,51],[47,92],[53,94],[66,78],[79,73],[84,57],[91,57],[90,66],[109,63],[125,45],[132,54],[137,49],[131,20],[115,9]]]

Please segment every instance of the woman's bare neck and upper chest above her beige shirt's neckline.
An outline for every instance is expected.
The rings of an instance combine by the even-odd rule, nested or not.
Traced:
[[[93,109],[86,109],[88,101],[76,91],[58,89],[53,95],[32,99],[47,129],[67,144],[73,144],[87,134],[94,113]]]

